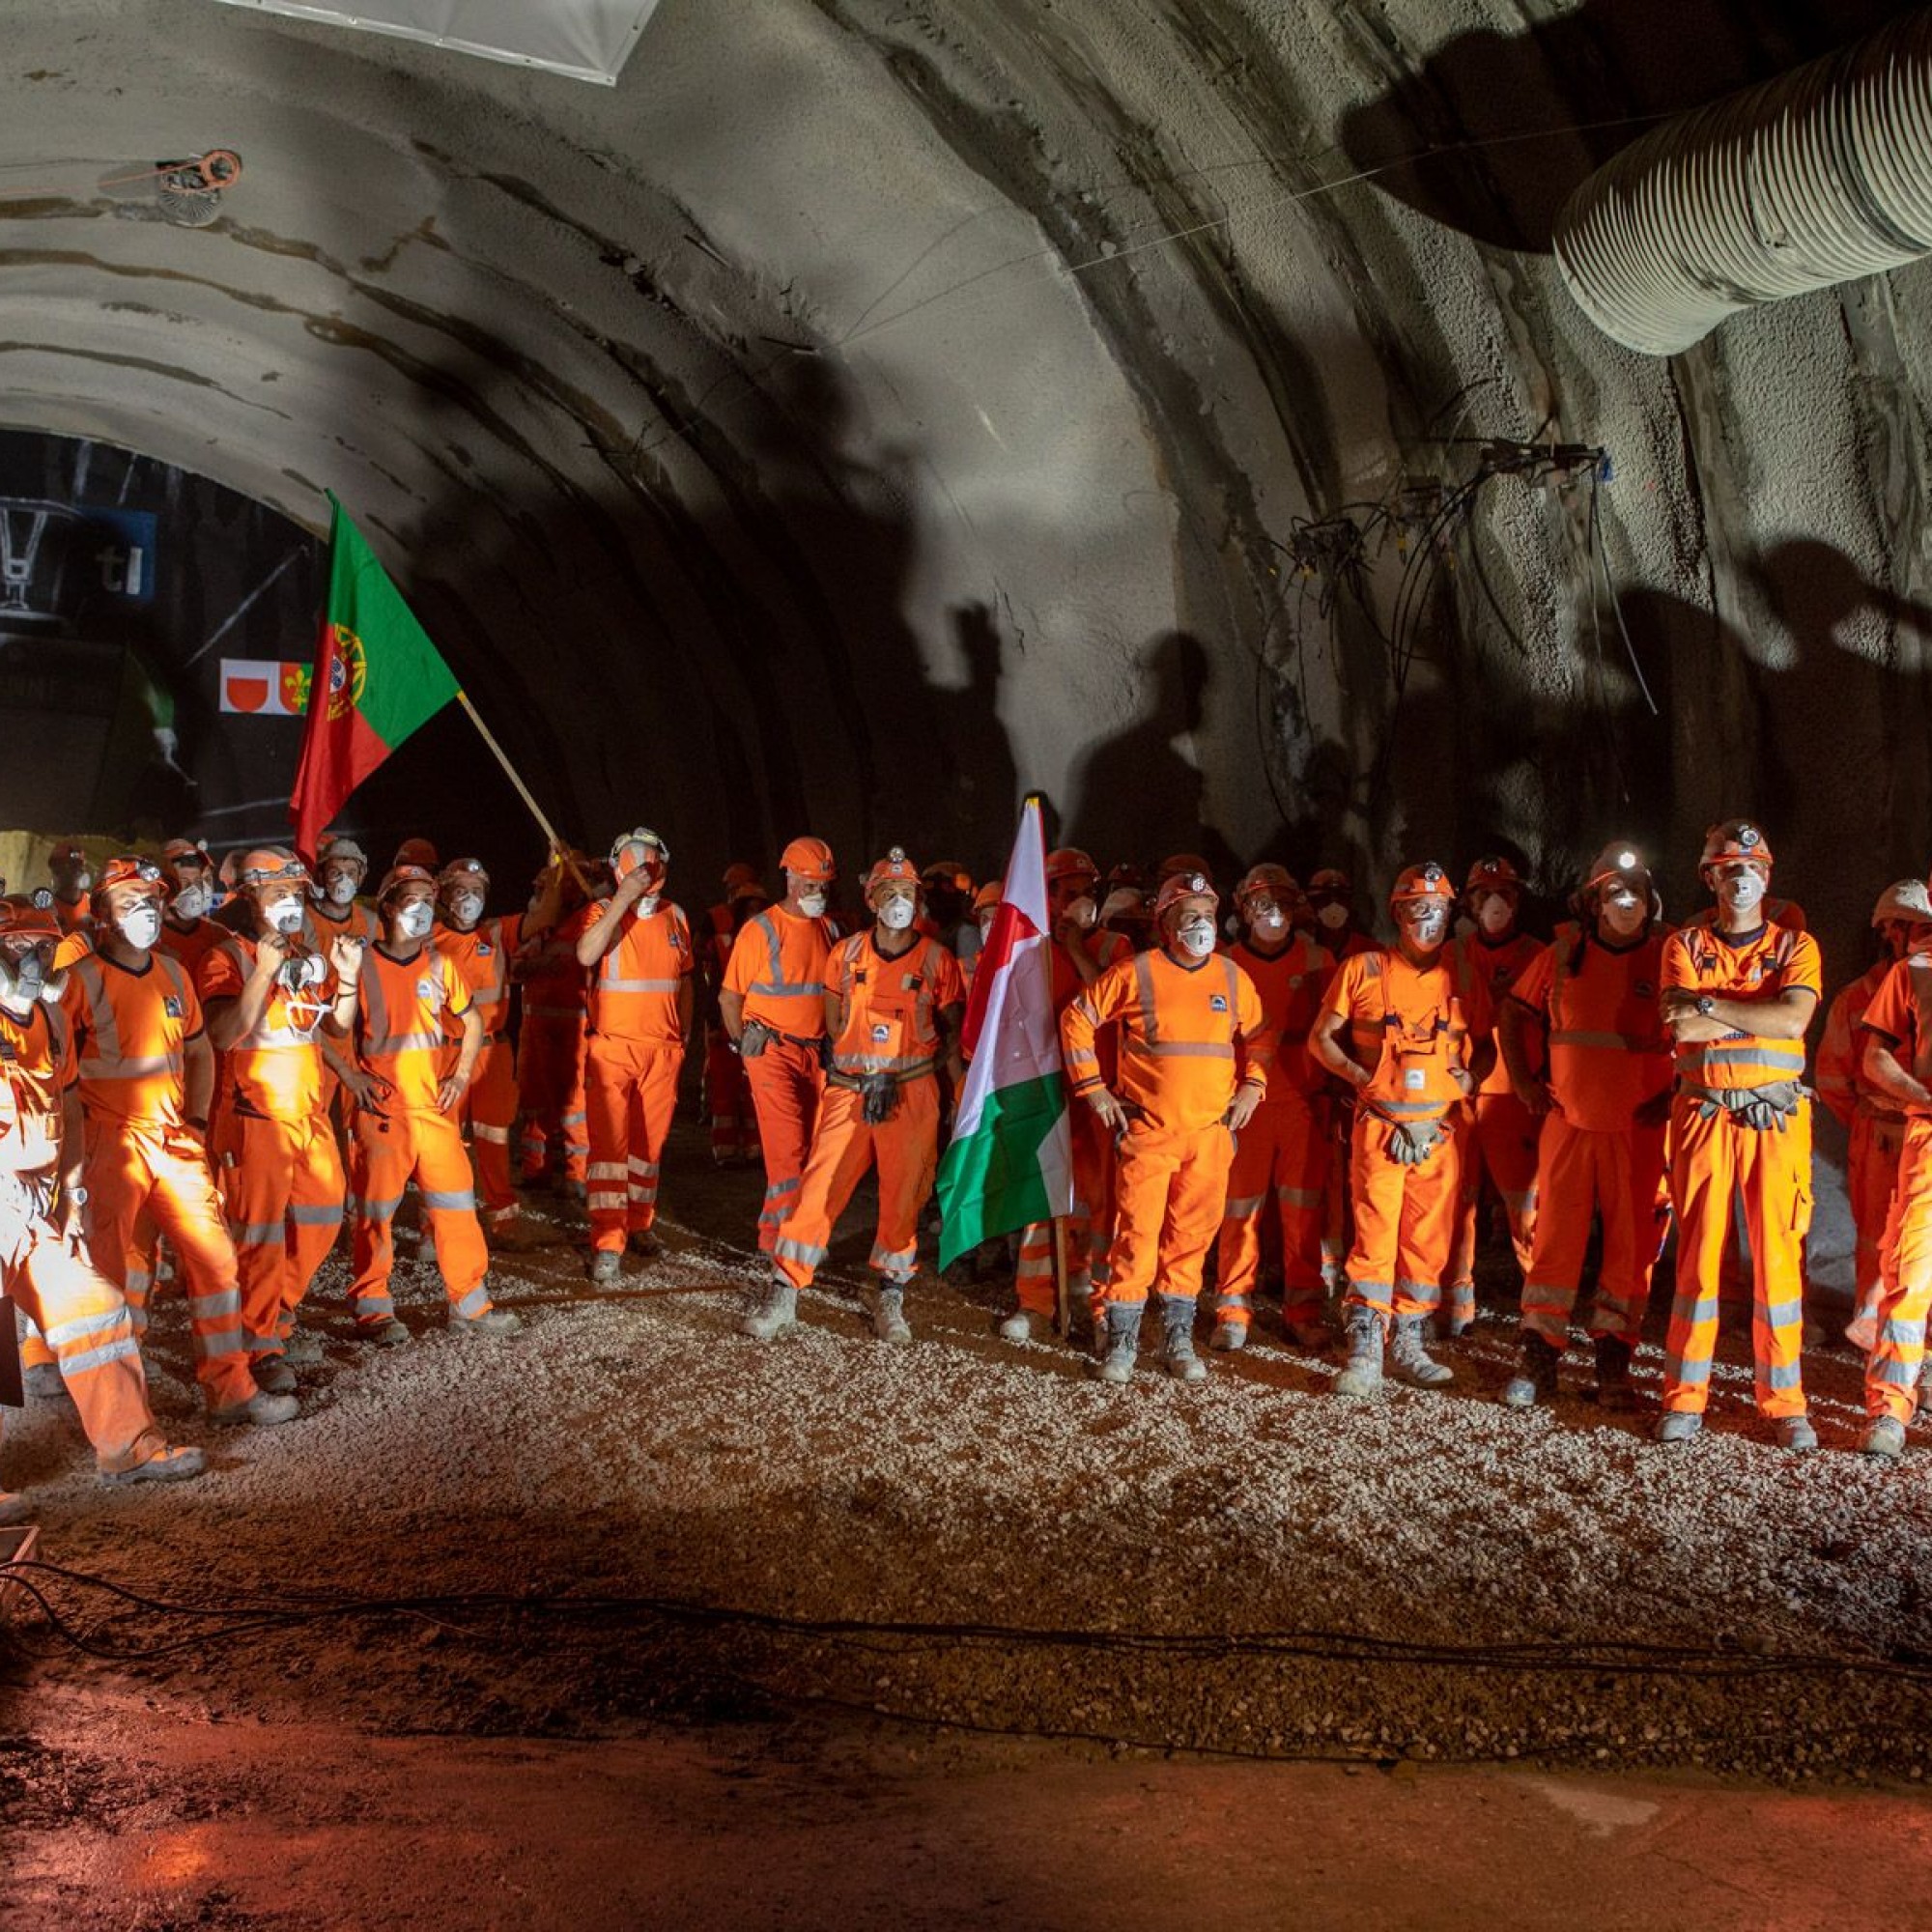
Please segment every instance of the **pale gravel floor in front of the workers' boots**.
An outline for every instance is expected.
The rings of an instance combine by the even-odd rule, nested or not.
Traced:
[[[755,1175],[711,1173],[680,1130],[668,1252],[628,1262],[616,1291],[589,1291],[582,1229],[543,1198],[556,1244],[497,1275],[526,1333],[448,1337],[435,1275],[413,1267],[398,1304],[415,1343],[359,1349],[332,1264],[309,1304],[327,1362],[303,1372],[298,1424],[213,1441],[199,1484],[102,1492],[71,1408],[41,1403],[8,1416],[6,1480],[43,1497],[46,1559],[164,1598],[570,1592],[952,1627],[448,1607],[128,1671],[216,1714],[622,1735],[667,1712],[823,1700],[1121,1748],[1920,1776],[1928,1459],[1922,1443],[1895,1468],[1845,1453],[1859,1368],[1843,1349],[1806,1354],[1826,1445],[1808,1459],[1752,1420],[1743,1337],[1719,1349],[1706,1435],[1685,1451],[1648,1443],[1642,1416],[1598,1416],[1580,1350],[1553,1410],[1503,1410],[1515,1341],[1501,1308],[1443,1350],[1457,1383],[1435,1395],[1333,1399],[1335,1364],[1291,1350],[1273,1323],[1204,1387],[1169,1383],[1148,1356],[1115,1391],[1059,1343],[999,1343],[991,1281],[922,1283],[914,1347],[873,1343],[858,1215],[802,1327],[761,1349],[732,1333],[761,1273],[744,1246],[757,1198]],[[178,1300],[158,1327],[156,1406],[193,1437]],[[1646,1347],[1652,1399],[1660,1366]],[[1229,1633],[1391,1648],[1298,1656],[1231,1648]],[[33,1617],[21,1636],[39,1658],[25,1669],[75,1677],[66,1654],[41,1656]],[[1725,1656],[1660,1675],[1401,1652],[1604,1642]],[[1770,1667],[1787,1654],[1880,1667]]]

